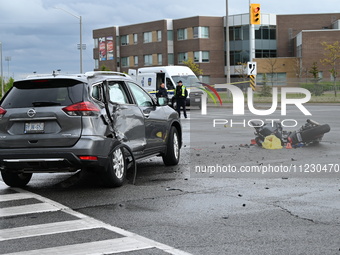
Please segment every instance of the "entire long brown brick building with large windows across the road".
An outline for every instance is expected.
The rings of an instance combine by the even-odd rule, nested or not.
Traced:
[[[257,62],[259,79],[270,73],[278,85],[297,78],[297,69],[300,78],[310,76],[308,70],[314,62],[320,77],[330,78],[330,68],[320,62],[324,58],[321,42],[340,40],[340,13],[261,14],[261,25],[255,25],[253,60],[249,59],[249,14],[228,18],[232,80],[240,77],[238,63],[247,61]],[[145,66],[181,65],[191,58],[203,70],[202,81],[225,82],[225,24],[225,17],[196,16],[93,30],[95,70],[105,66],[127,72]]]

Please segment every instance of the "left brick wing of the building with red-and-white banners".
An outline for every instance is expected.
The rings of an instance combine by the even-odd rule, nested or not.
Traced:
[[[223,17],[197,16],[109,27],[94,30],[93,38],[95,70],[104,65],[127,72],[145,66],[181,65],[191,58],[208,80],[224,77]]]

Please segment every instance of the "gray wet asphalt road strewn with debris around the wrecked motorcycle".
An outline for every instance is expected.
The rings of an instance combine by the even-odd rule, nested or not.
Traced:
[[[340,254],[340,172],[330,171],[331,164],[340,164],[339,106],[309,105],[308,109],[312,119],[331,126],[316,146],[281,150],[250,146],[253,128],[228,124],[214,128],[213,120],[247,122],[267,117],[249,112],[233,117],[228,107],[209,108],[207,116],[192,110],[189,119],[182,121],[184,146],[178,166],[165,167],[159,158],[143,161],[135,185],[117,189],[101,187],[89,173],[37,174],[27,190],[191,254]],[[289,108],[287,116],[278,112],[270,118],[295,119],[300,126],[306,116]],[[292,164],[309,171],[195,173],[198,166],[208,165]],[[327,170],[311,172],[312,164]],[[100,233],[87,235],[91,239]]]

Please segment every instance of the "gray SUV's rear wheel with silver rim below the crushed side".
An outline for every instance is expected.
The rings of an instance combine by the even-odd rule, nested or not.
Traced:
[[[123,149],[115,148],[109,156],[109,162],[103,173],[103,181],[107,187],[120,187],[123,185],[126,177],[126,160]]]

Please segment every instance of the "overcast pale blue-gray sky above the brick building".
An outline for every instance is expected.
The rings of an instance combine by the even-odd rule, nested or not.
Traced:
[[[229,0],[229,15],[248,12],[249,0]],[[339,0],[252,0],[262,13],[340,12]],[[3,75],[79,72],[79,19],[82,16],[83,70],[94,68],[92,30],[161,19],[225,16],[226,0],[0,0]],[[6,61],[10,57],[10,61]],[[9,68],[8,68],[9,67]],[[9,71],[9,72],[8,72]]]

